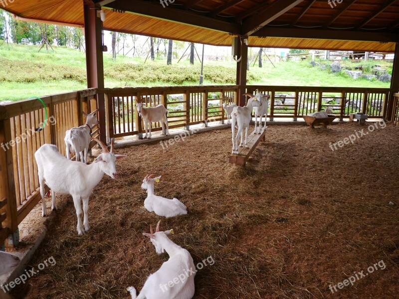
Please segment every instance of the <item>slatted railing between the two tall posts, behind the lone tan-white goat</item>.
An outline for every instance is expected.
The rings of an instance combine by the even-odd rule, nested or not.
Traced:
[[[163,104],[169,112],[170,129],[222,120],[220,105],[237,102],[237,86],[116,88],[98,92],[105,94],[109,138],[141,137],[144,124],[137,113],[137,102],[145,103],[146,107]],[[161,124],[155,123],[152,131],[161,129]]]

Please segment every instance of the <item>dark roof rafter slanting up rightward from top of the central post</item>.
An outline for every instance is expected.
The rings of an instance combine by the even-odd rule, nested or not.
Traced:
[[[295,7],[304,0],[277,0],[259,11],[258,16],[249,18],[242,24],[242,34],[251,35],[259,28],[278,18],[284,12]]]

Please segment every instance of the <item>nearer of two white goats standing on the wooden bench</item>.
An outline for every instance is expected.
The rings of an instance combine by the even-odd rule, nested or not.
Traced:
[[[248,148],[248,128],[249,128],[249,123],[251,122],[251,114],[252,114],[252,108],[253,107],[259,107],[262,106],[262,103],[258,101],[256,97],[252,97],[251,94],[245,94],[249,95],[251,98],[248,99],[248,103],[244,107],[234,107],[233,112],[231,113],[231,133],[232,133],[232,143],[233,143],[233,149],[231,153],[238,153],[238,136],[241,135],[241,143],[240,147],[242,147],[242,140],[243,140],[243,134],[244,132],[242,131],[245,128],[245,148]],[[237,130],[237,135],[235,136],[234,139],[234,131],[235,131],[235,126],[238,127]]]

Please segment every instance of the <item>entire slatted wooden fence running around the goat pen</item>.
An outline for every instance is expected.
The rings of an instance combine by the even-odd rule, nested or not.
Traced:
[[[65,131],[84,124],[82,112],[97,108],[97,94],[105,94],[108,138],[143,133],[143,121],[136,102],[147,107],[163,104],[169,111],[170,128],[187,129],[209,121],[224,121],[220,105],[238,102],[238,91],[269,94],[269,115],[296,121],[315,111],[331,107],[340,119],[364,112],[371,118],[385,118],[390,89],[301,86],[176,86],[153,88],[89,89],[0,105],[0,247],[7,236],[17,237],[18,224],[40,201],[34,152],[44,143],[54,144],[65,155]],[[399,122],[399,94],[395,94],[393,120]],[[37,132],[45,121],[43,130]],[[160,131],[159,123],[152,131]],[[98,125],[92,136],[99,137]],[[91,144],[91,147],[95,143]],[[14,242],[14,243],[13,243]],[[12,246],[16,240],[10,240]]]

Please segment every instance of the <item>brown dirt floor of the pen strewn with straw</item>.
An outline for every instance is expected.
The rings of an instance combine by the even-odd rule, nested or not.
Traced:
[[[354,144],[330,149],[362,129],[368,134]],[[37,268],[53,257],[56,265],[12,295],[106,299],[130,298],[129,286],[140,291],[168,259],[142,235],[161,219],[144,209],[140,188],[154,173],[162,175],[156,194],[189,209],[163,219],[161,229],[174,228],[171,239],[196,264],[215,261],[196,275],[195,299],[399,298],[399,128],[269,125],[266,140],[245,169],[228,163],[230,130],[195,134],[166,152],[159,143],[118,149],[129,157],[117,162],[117,180],[104,176],[94,189],[91,230],[78,236],[70,199],[31,261]],[[355,274],[353,286],[330,291]]]

